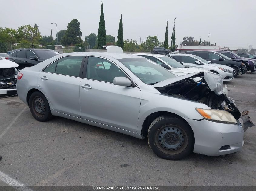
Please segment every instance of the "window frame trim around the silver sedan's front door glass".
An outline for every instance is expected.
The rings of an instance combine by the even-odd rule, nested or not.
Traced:
[[[84,62],[84,66],[83,66],[82,79],[93,80],[93,81],[100,81],[100,80],[94,80],[94,79],[86,78],[86,77],[87,77],[87,76],[86,76],[87,64],[88,64],[88,59],[89,59],[89,57],[102,58],[102,59],[105,59],[105,60],[111,62],[112,64],[115,64],[122,72],[124,72],[124,74],[128,77],[128,79],[131,80],[131,86],[129,86],[129,87],[138,88],[138,85],[131,79],[131,77],[130,77],[122,68],[120,68],[115,62],[113,62],[113,61],[111,61],[111,60],[109,60],[109,59],[107,59],[107,58],[104,58],[104,57],[102,57],[102,56],[86,55],[85,62]],[[113,82],[107,82],[107,81],[100,81],[100,82],[113,84]]]

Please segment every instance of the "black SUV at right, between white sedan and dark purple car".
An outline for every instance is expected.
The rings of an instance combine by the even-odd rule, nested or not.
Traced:
[[[216,63],[216,64],[222,64],[222,65],[226,65],[229,66],[231,68],[233,68],[234,71],[234,77],[236,77],[238,75],[239,72],[241,72],[241,74],[245,74],[247,67],[247,61],[248,59],[230,59],[227,56],[218,53],[217,51],[188,51],[185,52],[186,54],[194,54],[197,55],[205,60],[207,60],[208,62],[212,62],[212,63]]]

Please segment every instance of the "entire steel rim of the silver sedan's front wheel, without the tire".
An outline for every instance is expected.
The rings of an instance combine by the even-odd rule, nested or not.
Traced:
[[[188,135],[179,126],[163,126],[155,134],[155,143],[165,154],[179,154],[188,145]]]

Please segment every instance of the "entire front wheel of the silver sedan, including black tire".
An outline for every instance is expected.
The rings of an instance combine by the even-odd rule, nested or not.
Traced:
[[[148,145],[161,158],[179,160],[193,151],[194,133],[176,116],[159,116],[148,128]]]

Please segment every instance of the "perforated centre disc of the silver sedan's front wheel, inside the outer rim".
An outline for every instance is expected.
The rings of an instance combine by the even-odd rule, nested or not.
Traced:
[[[159,145],[168,151],[176,151],[182,147],[185,135],[178,127],[164,127],[158,133]]]

